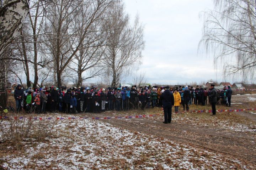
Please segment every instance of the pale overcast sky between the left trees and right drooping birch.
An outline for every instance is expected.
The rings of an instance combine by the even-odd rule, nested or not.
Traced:
[[[145,50],[139,72],[146,72],[148,83],[222,81],[222,74],[214,70],[213,57],[197,52],[203,26],[199,14],[213,8],[212,0],[124,0],[124,3],[130,19],[134,21],[138,13],[145,25]]]

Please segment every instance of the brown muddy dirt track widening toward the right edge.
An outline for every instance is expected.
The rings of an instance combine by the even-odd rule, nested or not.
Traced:
[[[231,107],[217,105],[217,109],[245,109],[256,108],[256,95],[232,96]],[[207,106],[190,106],[192,110],[211,109]],[[173,110],[173,109],[172,109]],[[156,117],[138,119],[101,119],[114,127],[127,129],[170,140],[180,145],[188,145],[216,153],[230,160],[240,160],[249,169],[256,169],[256,110],[243,112],[224,112],[211,116],[210,113],[183,112],[172,114],[170,124],[163,124],[161,108],[146,109],[146,111],[75,114],[75,117],[115,117],[123,115],[159,114]],[[24,116],[27,116],[26,114]],[[48,113],[46,115],[31,115],[36,117],[65,117],[65,114]],[[98,122],[100,123],[100,122]],[[71,129],[72,131],[72,129]],[[124,138],[124,142],[127,140]],[[236,166],[235,169],[239,166]],[[231,168],[232,169],[232,168]]]

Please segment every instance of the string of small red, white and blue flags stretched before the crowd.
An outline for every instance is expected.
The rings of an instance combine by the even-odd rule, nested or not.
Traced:
[[[163,109],[162,109],[163,110]],[[250,109],[226,109],[226,110],[218,110],[218,112],[222,113],[222,112],[243,112],[243,111],[256,111],[256,108],[250,108]],[[193,110],[190,111],[190,113],[211,113],[212,110]],[[129,115],[129,116],[117,116],[117,117],[17,117],[14,116],[13,119],[14,120],[18,120],[18,119],[29,119],[29,120],[63,120],[63,119],[95,119],[95,120],[99,120],[99,119],[137,119],[137,118],[149,118],[149,117],[157,117],[163,115],[163,113],[158,113],[158,114],[143,114],[143,115]],[[7,116],[0,116],[0,119],[10,119],[12,117],[7,117]]]

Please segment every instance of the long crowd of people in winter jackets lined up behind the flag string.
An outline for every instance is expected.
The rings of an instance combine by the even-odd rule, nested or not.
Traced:
[[[179,86],[179,87],[158,87],[136,85],[129,87],[108,87],[98,89],[92,87],[73,87],[67,89],[62,87],[46,87],[33,89],[22,89],[21,85],[17,85],[14,92],[17,111],[31,113],[46,112],[64,112],[64,113],[80,113],[80,112],[105,112],[111,110],[130,109],[146,109],[154,107],[162,107],[162,94],[165,90],[169,90],[174,97],[173,106],[175,112],[180,112],[182,106],[183,111],[189,110],[191,104],[206,105],[210,104],[211,89],[206,90],[196,86]],[[223,90],[216,91],[216,103],[231,104],[232,90],[230,87],[224,87]]]

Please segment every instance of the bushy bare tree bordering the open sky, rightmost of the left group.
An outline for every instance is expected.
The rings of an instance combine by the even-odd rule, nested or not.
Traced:
[[[111,71],[112,86],[117,86],[121,75],[140,64],[144,48],[144,27],[137,16],[134,25],[129,25],[129,17],[124,13],[123,4],[110,8],[107,29],[110,30],[105,50],[105,63]]]

